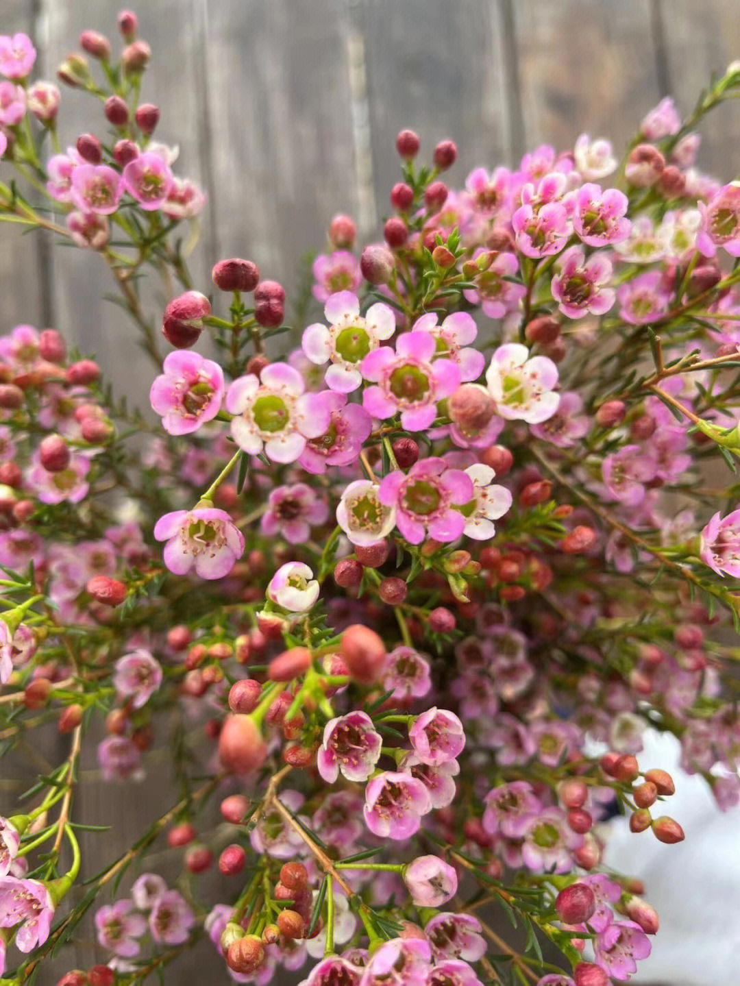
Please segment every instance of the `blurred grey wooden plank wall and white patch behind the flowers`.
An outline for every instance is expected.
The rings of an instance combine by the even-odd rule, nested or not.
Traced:
[[[120,6],[0,0],[0,32],[32,35],[37,75],[53,79],[81,31],[114,37]],[[688,113],[710,74],[740,58],[738,0],[146,0],[137,13],[153,49],[143,99],[162,108],[157,137],[179,146],[176,173],[198,181],[209,199],[190,258],[206,293],[213,262],[232,255],[255,260],[290,292],[336,212],[353,215],[361,237],[377,238],[400,177],[394,138],[403,127],[420,134],[428,159],[438,140],[455,140],[459,159],[448,178],[460,184],[472,167],[515,166],[541,143],[570,149],[583,131],[609,137],[619,151],[660,98],[673,96]],[[100,106],[69,90],[60,123],[63,145],[83,131],[105,132]],[[740,106],[720,107],[702,134],[700,168],[737,176]],[[126,317],[103,300],[110,287],[92,253],[52,251],[18,227],[0,232],[0,331],[19,322],[57,327],[143,403],[152,370]],[[152,296],[152,317],[165,301]],[[54,739],[64,755],[67,741]],[[42,768],[40,746],[24,755],[29,771]],[[661,747],[655,764],[671,769],[672,755]],[[93,758],[84,765],[77,810],[115,826],[86,837],[89,872],[175,800],[166,765],[153,764],[151,774],[132,797],[130,788],[102,784]],[[0,809],[17,787],[3,782]],[[737,979],[740,819],[719,817],[699,787],[689,785],[685,813],[675,806],[685,844],[666,852],[652,840],[636,850],[633,837],[611,857],[649,877],[649,899],[662,912],[643,983]],[[103,958],[92,933],[73,951],[60,968]],[[192,981],[192,961],[169,970],[167,982]],[[48,970],[37,980],[54,981]]]

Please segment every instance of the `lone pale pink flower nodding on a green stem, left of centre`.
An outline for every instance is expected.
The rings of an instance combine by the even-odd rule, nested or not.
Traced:
[[[222,579],[244,550],[243,534],[229,514],[213,507],[165,514],[155,525],[154,536],[167,541],[165,564],[175,575],[195,567],[201,579]]]

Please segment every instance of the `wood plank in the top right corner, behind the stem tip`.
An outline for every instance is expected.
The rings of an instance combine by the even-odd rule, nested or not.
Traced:
[[[670,89],[682,115],[688,115],[712,72],[722,74],[740,56],[740,18],[733,0],[655,0],[665,38]],[[722,181],[740,170],[740,108],[734,100],[719,106],[699,126],[698,165]]]

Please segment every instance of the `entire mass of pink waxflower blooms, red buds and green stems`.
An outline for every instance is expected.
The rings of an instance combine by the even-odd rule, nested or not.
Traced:
[[[0,983],[167,981],[202,939],[259,986],[630,979],[658,916],[608,832],[684,838],[644,731],[740,801],[740,186],[695,165],[740,67],[621,163],[446,180],[402,131],[382,231],[337,214],[287,316],[251,259],[193,281],[205,196],[118,28],[59,67],[68,146],[0,36],[0,220],[107,267],[152,361],[133,411],[61,331],[0,337],[0,749],[67,750],[3,806]],[[102,869],[91,746],[158,812]]]

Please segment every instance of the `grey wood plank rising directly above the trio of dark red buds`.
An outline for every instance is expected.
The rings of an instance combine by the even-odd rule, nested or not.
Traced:
[[[219,255],[290,296],[331,217],[357,210],[342,0],[213,3],[206,47]]]

